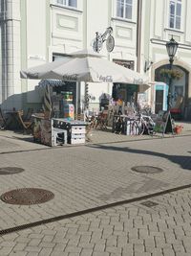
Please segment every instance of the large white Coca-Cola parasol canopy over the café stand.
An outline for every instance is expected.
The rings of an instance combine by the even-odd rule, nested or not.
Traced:
[[[101,58],[91,50],[78,51],[71,56],[72,58],[22,70],[21,78],[148,84],[148,77]]]

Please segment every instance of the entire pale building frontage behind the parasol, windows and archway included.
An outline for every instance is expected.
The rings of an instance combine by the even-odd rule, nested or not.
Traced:
[[[183,116],[191,118],[190,10],[189,0],[0,0],[0,104],[39,106],[38,81],[21,80],[19,71],[92,48],[96,32],[112,27],[115,48],[108,53],[103,44],[100,54],[150,77],[150,89],[138,95],[154,112],[166,107],[165,43],[173,35],[179,42],[174,69],[180,75],[172,84],[173,104],[181,96]],[[87,88],[91,108],[98,108],[103,93],[112,96],[110,83],[74,86],[77,107],[83,108]]]

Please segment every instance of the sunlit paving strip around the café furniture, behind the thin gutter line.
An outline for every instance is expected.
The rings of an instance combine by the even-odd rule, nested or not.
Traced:
[[[176,122],[176,125],[181,125],[183,127],[182,132],[179,135],[164,134],[164,138],[191,135],[191,123]],[[90,141],[87,141],[86,144],[99,144],[160,139],[162,138],[162,134],[158,133],[154,136],[123,135],[113,133],[111,129],[93,129],[89,133],[88,137],[90,138]],[[0,138],[0,153],[9,151],[43,150],[49,148],[41,144],[33,143],[32,135],[24,135],[11,130],[0,130]]]

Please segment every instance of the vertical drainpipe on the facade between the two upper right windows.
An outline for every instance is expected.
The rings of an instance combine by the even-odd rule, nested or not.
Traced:
[[[140,72],[141,19],[142,19],[142,0],[138,0],[138,18],[137,18],[137,71],[138,72]]]

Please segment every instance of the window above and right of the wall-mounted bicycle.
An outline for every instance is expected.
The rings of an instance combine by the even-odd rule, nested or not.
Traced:
[[[133,0],[117,0],[117,17],[132,19]]]

